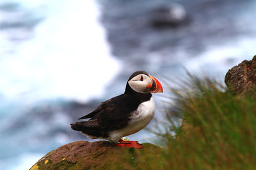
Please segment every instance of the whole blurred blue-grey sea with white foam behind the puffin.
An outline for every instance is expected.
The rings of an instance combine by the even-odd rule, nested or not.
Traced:
[[[122,94],[134,71],[161,81],[186,68],[223,82],[256,54],[255,8],[253,0],[0,0],[0,169],[29,169],[61,145],[90,140],[69,124]]]

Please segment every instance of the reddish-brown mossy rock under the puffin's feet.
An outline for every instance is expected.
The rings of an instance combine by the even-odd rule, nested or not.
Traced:
[[[150,169],[161,161],[160,153],[161,148],[149,143],[143,143],[143,148],[136,149],[114,146],[109,141],[75,141],[47,153],[31,170]]]

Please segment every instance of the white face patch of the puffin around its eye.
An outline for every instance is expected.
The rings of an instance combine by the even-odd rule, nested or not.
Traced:
[[[151,79],[145,74],[138,74],[129,80],[128,83],[132,90],[140,93],[148,93],[149,89],[147,86],[151,84]]]

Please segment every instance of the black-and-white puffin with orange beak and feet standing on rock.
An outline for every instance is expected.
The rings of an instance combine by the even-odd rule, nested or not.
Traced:
[[[142,148],[138,141],[122,138],[148,125],[155,114],[151,93],[163,92],[161,83],[146,71],[136,71],[129,77],[124,94],[102,102],[95,110],[78,118],[71,129],[91,139],[106,139],[116,146]]]

